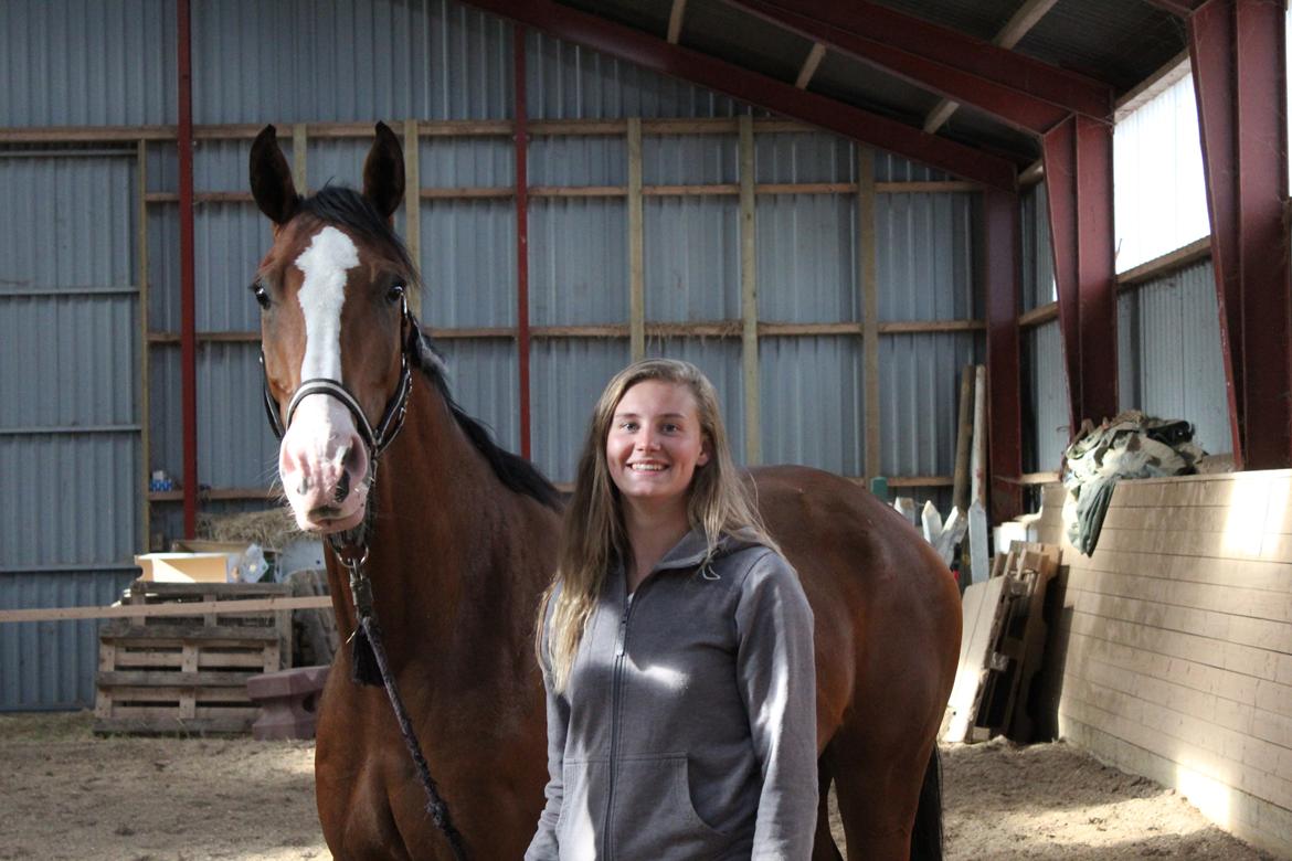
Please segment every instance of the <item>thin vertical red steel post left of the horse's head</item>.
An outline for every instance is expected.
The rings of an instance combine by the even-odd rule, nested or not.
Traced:
[[[180,409],[183,536],[198,534],[198,325],[193,250],[193,40],[190,0],[176,0],[180,67]],[[145,345],[147,349],[147,345]]]

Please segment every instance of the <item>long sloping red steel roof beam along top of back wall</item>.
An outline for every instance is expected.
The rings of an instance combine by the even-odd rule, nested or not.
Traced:
[[[468,0],[470,5],[587,45],[652,71],[682,77],[751,105],[811,123],[881,150],[922,161],[985,186],[1014,190],[1017,167],[1008,159],[926,134],[844,102],[808,93],[689,48],[671,45],[632,27],[563,6],[552,0]]]

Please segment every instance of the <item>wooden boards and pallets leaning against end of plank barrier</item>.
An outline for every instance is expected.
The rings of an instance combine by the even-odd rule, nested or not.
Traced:
[[[991,577],[964,593],[960,663],[942,741],[986,741],[1005,733],[1031,741],[1028,704],[1045,652],[1045,589],[1059,550],[1016,541]]]

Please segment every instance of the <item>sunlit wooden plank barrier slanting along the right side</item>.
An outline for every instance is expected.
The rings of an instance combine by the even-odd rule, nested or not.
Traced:
[[[1292,856],[1292,474],[1121,481],[1092,556],[1044,498],[1059,733]]]

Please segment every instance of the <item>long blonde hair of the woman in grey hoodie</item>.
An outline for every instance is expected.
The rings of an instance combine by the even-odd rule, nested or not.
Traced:
[[[700,434],[712,453],[708,463],[696,467],[691,479],[686,518],[693,529],[704,533],[707,555],[713,555],[724,534],[734,532],[776,549],[731,460],[713,383],[689,361],[645,359],[628,365],[606,383],[606,390],[601,392],[593,409],[592,421],[588,422],[588,438],[579,456],[574,496],[566,507],[561,529],[557,573],[539,604],[539,663],[541,666],[550,662],[550,684],[558,692],[565,689],[570,678],[574,656],[601,594],[606,572],[618,560],[627,559],[630,551],[619,488],[610,479],[606,467],[606,436],[619,401],[629,389],[646,381],[685,385],[695,398]],[[558,586],[561,593],[553,599]],[[548,604],[553,600],[552,625],[547,638],[548,661],[544,661],[543,622]]]

